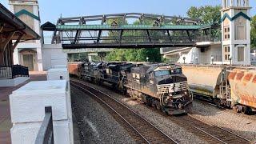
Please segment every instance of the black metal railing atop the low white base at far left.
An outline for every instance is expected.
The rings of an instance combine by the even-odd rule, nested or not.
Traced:
[[[29,69],[26,66],[0,66],[0,79],[17,77],[29,77]]]

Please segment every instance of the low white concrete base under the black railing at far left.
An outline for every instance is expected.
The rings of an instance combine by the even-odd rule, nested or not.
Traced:
[[[23,82],[29,80],[30,77],[18,77],[14,79],[2,79],[0,80],[0,87],[11,87],[11,86],[18,86]]]

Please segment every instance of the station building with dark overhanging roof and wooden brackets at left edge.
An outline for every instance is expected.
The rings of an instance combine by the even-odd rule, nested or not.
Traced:
[[[14,51],[19,42],[35,41],[40,36],[0,4],[0,87],[17,86],[29,78],[25,66],[14,65]]]

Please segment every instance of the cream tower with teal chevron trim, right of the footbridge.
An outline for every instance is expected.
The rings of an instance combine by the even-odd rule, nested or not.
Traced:
[[[250,65],[249,0],[222,0],[222,60]]]

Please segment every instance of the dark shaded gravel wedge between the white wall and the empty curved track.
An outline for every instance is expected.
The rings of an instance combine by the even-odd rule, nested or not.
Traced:
[[[126,130],[90,96],[71,86],[72,110],[81,143],[135,143]],[[78,142],[77,142],[78,143]]]

